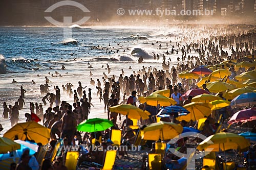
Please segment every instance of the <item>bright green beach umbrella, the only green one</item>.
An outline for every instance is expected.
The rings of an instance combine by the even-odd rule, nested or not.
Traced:
[[[113,122],[104,118],[91,118],[81,122],[76,128],[83,132],[98,132],[114,126]]]

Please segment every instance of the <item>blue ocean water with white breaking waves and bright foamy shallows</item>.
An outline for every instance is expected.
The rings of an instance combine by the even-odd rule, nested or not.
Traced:
[[[6,74],[0,74],[0,114],[3,113],[4,102],[7,105],[14,105],[20,95],[20,86],[23,86],[27,90],[26,106],[19,112],[19,122],[25,122],[24,114],[29,112],[29,103],[41,103],[44,94],[40,94],[39,86],[45,83],[45,76],[47,76],[52,81],[50,92],[53,92],[54,85],[58,85],[61,89],[61,100],[66,100],[70,104],[73,104],[73,98],[70,99],[66,93],[62,92],[62,84],[71,82],[74,85],[72,89],[76,89],[80,81],[83,87],[87,86],[87,93],[88,88],[92,88],[94,107],[91,108],[89,118],[107,118],[103,103],[99,103],[97,89],[90,85],[90,78],[95,82],[100,79],[103,89],[103,72],[108,77],[115,75],[118,80],[122,68],[125,76],[133,74],[133,70],[137,73],[142,66],[162,69],[161,54],[172,49],[171,46],[176,44],[175,37],[178,36],[183,36],[183,33],[177,28],[91,27],[73,28],[72,39],[63,39],[63,29],[57,27],[0,27],[0,66],[4,60],[7,65]],[[172,43],[166,47],[165,43],[170,40]],[[117,45],[117,42],[120,44]],[[152,42],[155,45],[152,45]],[[161,49],[158,48],[160,43]],[[119,52],[116,53],[116,50]],[[153,60],[153,53],[161,56],[159,61]],[[197,54],[190,53],[190,55]],[[137,61],[139,56],[144,58],[141,64]],[[170,57],[171,66],[175,65],[177,56],[181,57],[181,54],[168,55],[166,61]],[[88,63],[93,68],[88,68]],[[110,74],[106,70],[107,63],[112,68]],[[62,64],[65,65],[66,70],[60,69]],[[102,65],[103,68],[101,68]],[[132,69],[129,69],[129,66]],[[49,70],[49,67],[53,69]],[[48,74],[50,72],[55,76],[55,71],[63,77],[52,77]],[[92,71],[92,77],[89,74],[90,71]],[[12,79],[18,83],[12,84]],[[36,84],[32,84],[32,80]],[[44,110],[47,107],[49,104],[44,107]],[[11,123],[9,119],[2,117],[0,123],[4,127],[0,135],[3,135],[10,128]]]

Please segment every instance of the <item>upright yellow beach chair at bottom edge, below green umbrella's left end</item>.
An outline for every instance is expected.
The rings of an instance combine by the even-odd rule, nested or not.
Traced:
[[[69,170],[76,170],[76,165],[79,157],[79,152],[77,151],[68,151],[66,156],[65,166]]]

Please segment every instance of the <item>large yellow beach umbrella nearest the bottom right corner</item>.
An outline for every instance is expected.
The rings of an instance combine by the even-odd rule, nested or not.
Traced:
[[[213,142],[210,143],[209,141]],[[220,132],[207,137],[199,143],[197,149],[203,151],[211,149],[211,152],[227,151],[227,150],[246,150],[250,146],[249,141],[243,136],[235,133]]]

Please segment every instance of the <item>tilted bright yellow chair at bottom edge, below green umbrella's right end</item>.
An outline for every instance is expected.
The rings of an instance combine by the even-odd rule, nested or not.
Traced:
[[[111,170],[114,167],[116,159],[116,150],[105,151],[105,157],[103,160],[102,170]]]

